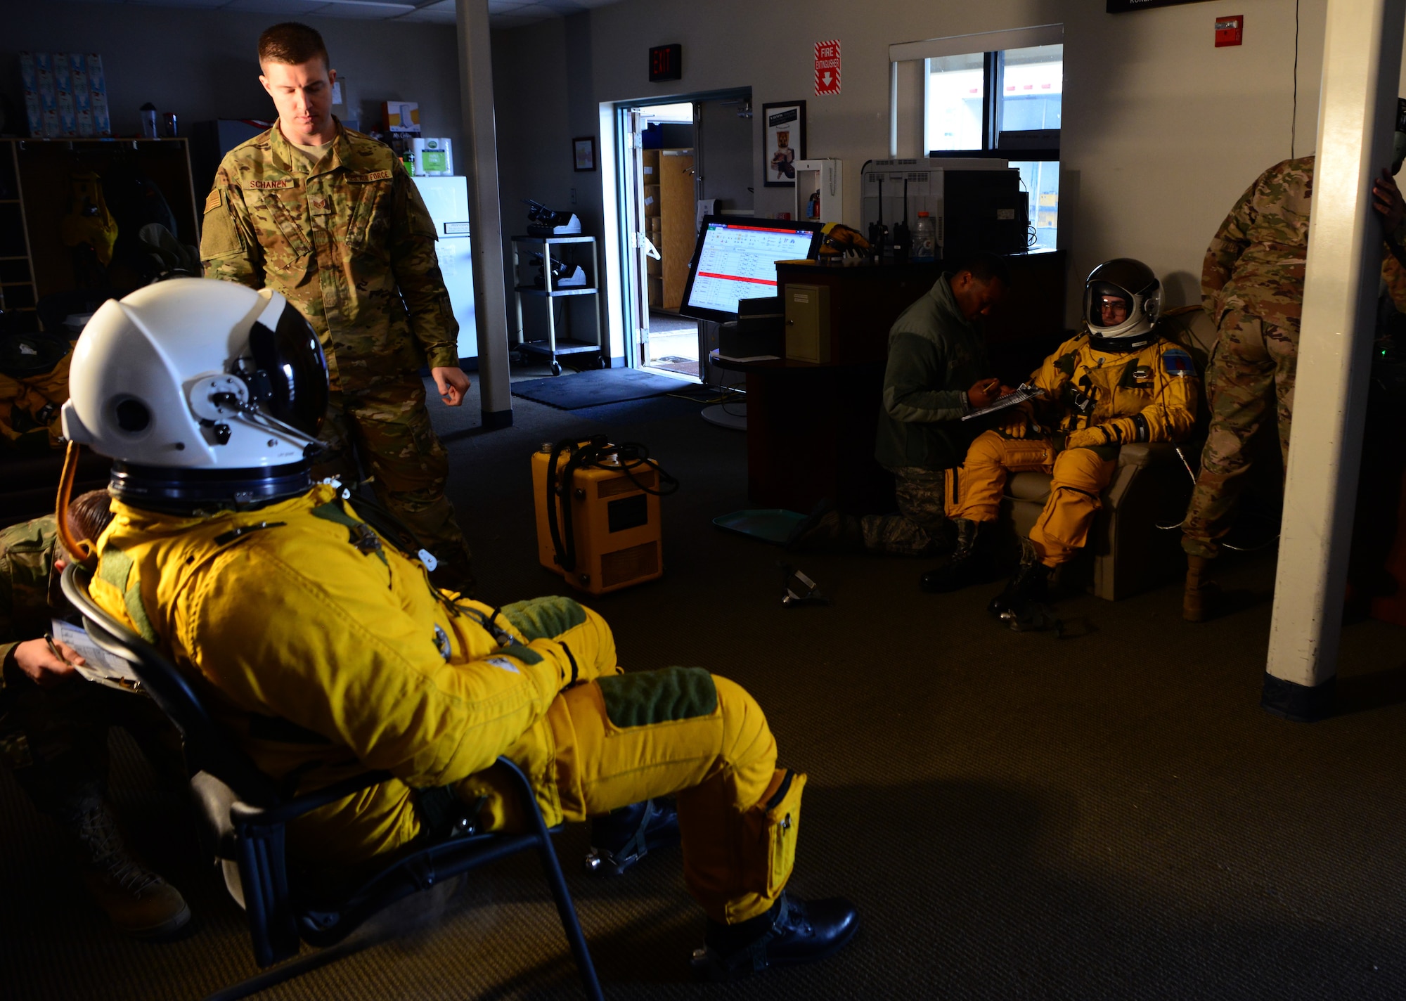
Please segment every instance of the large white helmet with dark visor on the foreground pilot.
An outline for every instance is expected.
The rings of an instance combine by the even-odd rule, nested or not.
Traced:
[[[117,460],[138,506],[245,505],[308,489],[326,406],[322,347],[283,295],[173,278],[93,314],[63,433]]]

